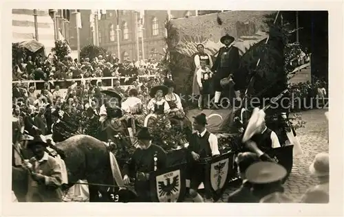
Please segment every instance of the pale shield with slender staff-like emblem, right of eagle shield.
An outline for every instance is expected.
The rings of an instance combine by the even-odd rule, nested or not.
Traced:
[[[213,199],[217,201],[226,189],[230,177],[235,172],[233,169],[233,152],[228,152],[219,157],[215,157],[206,164],[206,183],[205,187],[213,195]]]

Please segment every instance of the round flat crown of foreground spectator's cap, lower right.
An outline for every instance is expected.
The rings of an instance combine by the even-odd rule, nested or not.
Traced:
[[[250,183],[268,184],[282,180],[288,174],[286,168],[278,163],[261,161],[253,163],[246,170],[246,179]]]

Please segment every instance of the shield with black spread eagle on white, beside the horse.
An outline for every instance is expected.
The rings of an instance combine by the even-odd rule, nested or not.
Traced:
[[[152,202],[175,203],[184,200],[186,193],[186,165],[180,164],[151,172],[149,183]]]

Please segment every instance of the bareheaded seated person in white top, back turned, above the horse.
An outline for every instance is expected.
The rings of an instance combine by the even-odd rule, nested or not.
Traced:
[[[136,134],[135,123],[143,126],[145,117],[144,106],[142,100],[138,98],[138,90],[136,88],[129,90],[129,98],[122,102],[121,107],[124,113],[123,117],[127,120],[129,136],[133,137]]]

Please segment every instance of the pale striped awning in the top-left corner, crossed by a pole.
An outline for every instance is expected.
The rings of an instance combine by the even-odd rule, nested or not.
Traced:
[[[32,42],[34,39],[34,10],[12,10],[12,43]],[[45,54],[49,54],[55,47],[54,22],[49,15],[49,10],[37,10],[37,23],[39,43],[44,45]],[[64,40],[61,32],[59,38]]]

